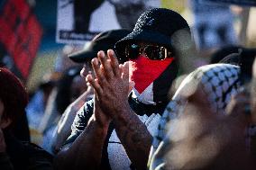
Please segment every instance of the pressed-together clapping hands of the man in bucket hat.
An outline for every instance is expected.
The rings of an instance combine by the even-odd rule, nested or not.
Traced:
[[[95,89],[101,109],[113,117],[114,112],[129,107],[129,64],[119,65],[114,51],[109,49],[107,56],[103,51],[99,51],[97,58],[92,60],[92,66],[96,78],[89,74],[87,82]]]

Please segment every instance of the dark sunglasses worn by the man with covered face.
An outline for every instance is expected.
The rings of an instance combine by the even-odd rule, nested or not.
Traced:
[[[125,46],[125,57],[130,59],[138,58],[143,52],[145,56],[152,60],[163,60],[171,57],[170,49],[158,45],[141,45],[136,43]]]

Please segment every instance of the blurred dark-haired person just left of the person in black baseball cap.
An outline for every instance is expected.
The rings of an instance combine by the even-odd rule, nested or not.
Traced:
[[[39,131],[42,134],[41,147],[52,153],[51,145],[54,139],[54,130],[57,127],[61,114],[73,103],[80,94],[87,90],[87,85],[79,76],[82,66],[70,67],[63,73],[63,76],[56,82],[50,93],[46,109],[41,117]]]

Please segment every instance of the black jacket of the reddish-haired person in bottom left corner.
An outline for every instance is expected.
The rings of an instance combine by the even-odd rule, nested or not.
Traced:
[[[28,141],[20,141],[4,131],[6,152],[0,153],[0,169],[43,169],[50,170],[52,167],[52,156]]]

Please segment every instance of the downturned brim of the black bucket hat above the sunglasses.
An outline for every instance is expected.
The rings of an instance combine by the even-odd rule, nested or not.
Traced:
[[[115,43],[114,49],[115,52],[123,56],[125,44],[129,41],[145,41],[145,42],[151,42],[151,43],[157,43],[160,45],[163,45],[164,47],[171,48],[171,40],[169,36],[166,36],[164,34],[161,34],[156,31],[133,31],[132,33],[129,33],[126,37],[124,37],[122,40],[119,40]]]

